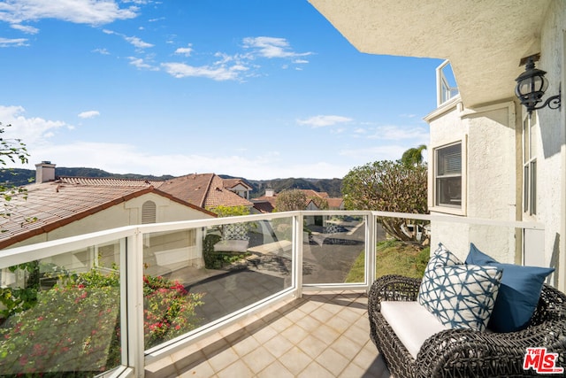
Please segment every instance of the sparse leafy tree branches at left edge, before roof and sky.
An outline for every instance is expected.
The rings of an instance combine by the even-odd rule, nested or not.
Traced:
[[[11,127],[11,125],[6,127]],[[20,139],[5,139],[2,137],[2,134],[4,134],[4,127],[2,127],[2,122],[0,122],[0,170],[4,173],[11,171],[10,168],[5,168],[9,161],[16,163],[19,160],[21,164],[26,164],[29,154],[27,153],[26,144],[22,143]],[[4,198],[4,208],[0,210],[0,217],[10,216],[13,207],[10,201],[17,195],[27,197],[27,189],[16,187],[9,182],[0,182],[0,197]]]

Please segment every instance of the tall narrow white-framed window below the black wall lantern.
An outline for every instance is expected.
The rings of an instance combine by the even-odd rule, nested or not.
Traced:
[[[535,132],[536,115],[523,121],[523,212],[537,213],[537,149]]]

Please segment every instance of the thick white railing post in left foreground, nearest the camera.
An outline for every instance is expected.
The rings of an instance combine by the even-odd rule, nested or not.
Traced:
[[[134,367],[136,377],[143,378],[143,234],[137,230],[126,240],[126,306],[128,366]]]

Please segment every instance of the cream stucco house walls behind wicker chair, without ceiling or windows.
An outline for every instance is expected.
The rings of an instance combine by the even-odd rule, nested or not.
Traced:
[[[566,84],[566,3],[552,2],[539,26],[540,59],[537,68],[547,72],[549,86],[543,101],[558,94]],[[517,66],[518,66],[517,62]],[[521,67],[522,68],[522,67]],[[457,78],[456,78],[457,80]],[[509,82],[512,89],[515,82]],[[478,90],[482,90],[478,88]],[[527,114],[516,97],[501,102],[465,108],[456,100],[425,118],[431,127],[429,161],[435,148],[458,140],[463,148],[462,210],[441,209],[432,213],[451,213],[490,220],[536,221],[544,225],[544,242],[523,254],[523,235],[498,232],[494,228],[474,229],[467,225],[432,224],[432,245],[442,242],[465,258],[469,243],[501,262],[556,268],[551,283],[566,289],[566,112],[544,108],[532,116],[536,149],[537,210],[524,212],[523,204],[523,122]],[[429,188],[433,186],[433,166],[429,170]],[[464,237],[463,237],[464,236]],[[536,236],[539,238],[539,235]],[[525,251],[525,253],[527,253]]]

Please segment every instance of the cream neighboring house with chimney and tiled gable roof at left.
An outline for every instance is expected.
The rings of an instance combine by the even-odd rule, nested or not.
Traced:
[[[14,197],[11,216],[0,219],[0,249],[42,243],[129,225],[178,220],[199,220],[216,215],[157,189],[159,181],[77,178],[55,176],[55,165],[36,165],[36,182],[27,185],[27,199]],[[5,203],[4,199],[2,201]],[[155,235],[144,244],[158,253],[162,272],[180,261],[203,266],[198,231]],[[165,240],[166,239],[166,240]],[[115,256],[116,243],[94,246],[99,253]],[[151,244],[151,245],[149,245]],[[164,245],[166,244],[166,247]],[[172,255],[176,253],[177,257]],[[84,253],[81,251],[80,253]],[[80,266],[80,253],[73,254]],[[118,262],[112,259],[107,265]],[[5,280],[6,274],[4,274]],[[5,282],[4,282],[5,283]]]

